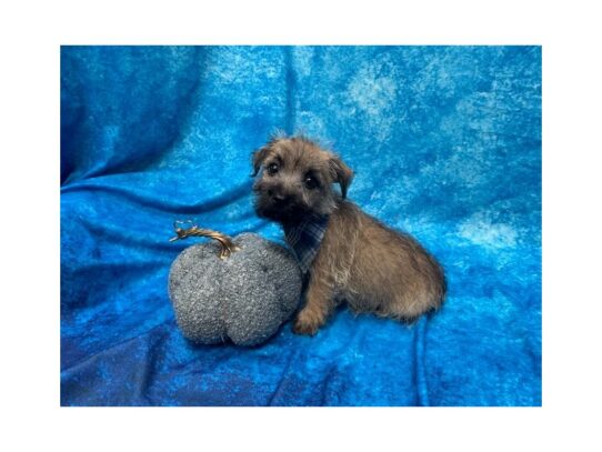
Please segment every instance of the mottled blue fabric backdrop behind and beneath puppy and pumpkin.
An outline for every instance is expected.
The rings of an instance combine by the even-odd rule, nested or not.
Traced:
[[[257,348],[177,329],[172,222],[282,240],[250,154],[304,132],[449,295]],[[62,405],[541,405],[541,48],[63,47]]]

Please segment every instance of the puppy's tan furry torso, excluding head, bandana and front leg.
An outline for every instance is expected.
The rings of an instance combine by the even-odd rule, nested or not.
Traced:
[[[445,279],[434,258],[349,201],[338,203],[322,248],[338,297],[357,312],[412,321],[441,305]]]

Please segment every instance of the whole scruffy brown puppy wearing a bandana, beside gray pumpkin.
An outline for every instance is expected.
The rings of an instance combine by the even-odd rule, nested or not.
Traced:
[[[405,322],[440,307],[439,263],[345,199],[353,171],[339,157],[304,137],[275,138],[253,153],[252,164],[255,212],[283,227],[309,277],[295,333],[315,334],[342,300],[355,312]]]

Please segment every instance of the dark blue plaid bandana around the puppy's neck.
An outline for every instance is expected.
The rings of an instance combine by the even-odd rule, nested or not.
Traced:
[[[294,227],[284,228],[287,243],[294,251],[303,274],[308,272],[318,253],[327,225],[328,217],[313,217]]]

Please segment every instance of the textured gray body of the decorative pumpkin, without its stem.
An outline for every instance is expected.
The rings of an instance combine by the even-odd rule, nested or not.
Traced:
[[[287,249],[251,233],[234,243],[241,249],[227,259],[211,241],[187,248],[171,265],[175,321],[191,341],[255,345],[299,305],[301,271]]]

